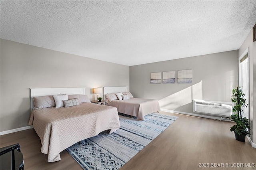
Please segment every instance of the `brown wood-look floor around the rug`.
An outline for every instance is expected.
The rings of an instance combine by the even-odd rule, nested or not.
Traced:
[[[161,113],[179,118],[120,170],[256,170],[256,148],[247,138],[246,142],[235,140],[231,122]],[[15,143],[20,143],[25,170],[82,170],[66,150],[60,153],[60,161],[47,163],[34,129],[0,136],[1,148]],[[210,167],[200,168],[200,163]],[[230,167],[238,163],[244,167]],[[218,164],[224,167],[214,167]],[[246,164],[255,167],[246,168]]]

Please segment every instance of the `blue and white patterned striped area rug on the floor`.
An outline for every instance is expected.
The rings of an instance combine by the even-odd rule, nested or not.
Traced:
[[[152,113],[144,121],[119,115],[121,127],[82,140],[66,150],[85,170],[118,170],[178,117]]]

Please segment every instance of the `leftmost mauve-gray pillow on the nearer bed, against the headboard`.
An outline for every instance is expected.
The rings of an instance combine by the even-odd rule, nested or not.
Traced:
[[[52,95],[33,97],[33,100],[36,109],[43,109],[55,106],[55,102]]]

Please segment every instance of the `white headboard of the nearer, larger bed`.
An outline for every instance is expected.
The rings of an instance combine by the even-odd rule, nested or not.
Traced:
[[[47,95],[85,95],[85,87],[71,87],[71,88],[30,88],[30,112],[34,108],[33,97],[47,96]]]

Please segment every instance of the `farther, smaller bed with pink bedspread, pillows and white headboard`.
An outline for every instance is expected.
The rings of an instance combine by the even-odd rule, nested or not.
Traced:
[[[104,87],[104,99],[109,106],[116,107],[118,113],[137,117],[142,121],[145,115],[160,111],[157,100],[134,98],[126,86]]]

